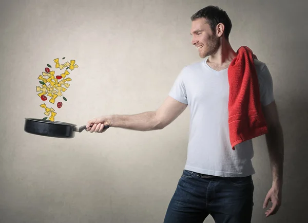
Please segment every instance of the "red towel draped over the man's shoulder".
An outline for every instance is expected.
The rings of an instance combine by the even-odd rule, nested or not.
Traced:
[[[233,150],[235,145],[267,133],[253,52],[242,46],[237,53],[228,68],[228,124]]]

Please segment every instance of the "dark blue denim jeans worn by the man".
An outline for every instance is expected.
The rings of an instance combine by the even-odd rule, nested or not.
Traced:
[[[184,170],[164,223],[248,223],[253,211],[252,176],[214,177]]]

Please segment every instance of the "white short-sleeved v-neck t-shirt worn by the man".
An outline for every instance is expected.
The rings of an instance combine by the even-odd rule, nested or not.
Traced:
[[[185,170],[222,177],[255,174],[251,159],[252,140],[232,150],[228,126],[228,69],[210,68],[207,58],[185,66],[172,86],[169,96],[189,105],[190,126]],[[261,104],[274,101],[273,80],[267,66],[254,61]]]

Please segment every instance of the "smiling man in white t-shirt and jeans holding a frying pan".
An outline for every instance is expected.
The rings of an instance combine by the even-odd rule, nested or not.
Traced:
[[[165,223],[203,222],[210,214],[215,222],[251,222],[255,173],[252,140],[232,150],[228,129],[228,66],[237,57],[228,41],[232,23],[225,11],[208,6],[191,16],[192,44],[201,62],[182,69],[169,96],[155,112],[109,115],[88,121],[87,131],[102,133],[104,124],[151,131],[163,129],[190,107],[187,161]],[[273,184],[263,203],[272,202],[266,217],[281,203],[283,136],[267,66],[254,60],[262,111],[267,123],[266,142],[271,160]],[[91,127],[92,126],[92,127]]]

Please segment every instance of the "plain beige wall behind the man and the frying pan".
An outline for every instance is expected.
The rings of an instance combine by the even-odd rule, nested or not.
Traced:
[[[71,72],[57,121],[80,126],[100,115],[157,109],[181,68],[200,60],[190,44],[190,16],[211,4],[230,16],[234,49],[249,46],[271,70],[284,130],[283,206],[268,219],[262,210],[271,187],[266,143],[264,136],[253,141],[253,222],[306,222],[303,2],[2,0],[0,222],[163,221],[186,160],[188,108],[161,131],[110,128],[69,140],[27,134],[24,118],[44,117],[37,77],[62,57],[79,68]]]

